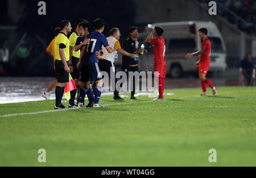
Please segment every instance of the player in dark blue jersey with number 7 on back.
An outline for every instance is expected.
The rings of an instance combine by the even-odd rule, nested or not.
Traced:
[[[101,50],[102,45],[109,53],[113,53],[113,49],[110,48],[106,37],[102,35],[105,28],[105,21],[96,19],[93,22],[93,26],[95,31],[86,36],[86,39],[90,39],[90,43],[82,47],[81,50],[81,82],[83,82],[83,88],[89,99],[89,104],[86,107],[101,108],[102,105],[99,104],[99,101],[103,80],[101,70],[98,67],[98,51]],[[90,81],[96,82],[95,97],[90,88]],[[82,102],[79,101],[78,107],[82,107],[82,105]]]

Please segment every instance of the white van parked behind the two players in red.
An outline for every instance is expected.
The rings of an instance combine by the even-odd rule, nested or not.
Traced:
[[[164,29],[163,37],[166,39],[166,64],[167,75],[172,78],[180,78],[183,73],[196,72],[195,63],[198,57],[186,59],[187,53],[201,49],[199,28],[208,29],[208,38],[212,43],[209,71],[226,70],[226,46],[224,40],[213,22],[166,22],[155,23]],[[139,33],[138,41],[143,44],[151,29],[145,27],[145,31]],[[147,54],[139,57],[139,70],[154,71],[154,50],[152,45],[145,44]]]

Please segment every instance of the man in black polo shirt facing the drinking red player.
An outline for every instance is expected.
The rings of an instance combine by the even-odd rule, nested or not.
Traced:
[[[129,74],[129,71],[139,71],[138,61],[139,54],[143,52],[143,49],[140,49],[139,42],[137,37],[139,35],[137,27],[130,27],[129,29],[130,37],[125,40],[123,43],[123,50],[128,53],[137,54],[135,58],[131,58],[129,56],[122,56],[122,70],[125,71],[126,74]],[[144,50],[144,53],[147,53],[147,50]],[[135,94],[135,77],[133,78],[133,89],[131,91],[131,99],[136,99],[134,97]]]

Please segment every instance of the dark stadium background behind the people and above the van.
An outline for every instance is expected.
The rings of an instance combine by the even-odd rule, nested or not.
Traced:
[[[52,57],[45,53],[47,45],[53,38],[53,29],[63,19],[71,20],[72,27],[77,18],[84,18],[90,23],[96,18],[106,20],[104,35],[109,35],[109,29],[121,29],[121,44],[128,37],[128,28],[138,26],[143,29],[148,23],[175,22],[188,20],[211,20],[217,24],[222,32],[228,49],[228,67],[236,67],[237,62],[245,52],[250,52],[250,41],[255,39],[254,28],[242,29],[247,22],[237,18],[239,14],[231,15],[228,7],[222,9],[228,0],[216,1],[218,3],[217,17],[207,15],[209,7],[204,0],[86,0],[86,1],[49,1],[46,0],[47,15],[38,15],[39,1],[1,0],[0,2],[0,42],[7,39],[10,50],[10,73],[17,75],[17,60],[13,53],[18,43],[24,38],[31,48],[30,56],[26,62],[26,76],[54,76],[52,70]],[[220,15],[221,12],[221,15]],[[254,13],[254,12],[253,12]],[[228,15],[227,15],[228,14]],[[255,14],[254,14],[255,15]],[[247,20],[247,19],[245,19]],[[236,30],[233,30],[236,28]],[[93,29],[90,29],[91,31]],[[245,48],[240,49],[242,31],[248,36]],[[227,37],[228,35],[228,37]],[[234,41],[234,42],[233,42]],[[235,45],[236,44],[236,45]],[[255,59],[254,59],[255,60]],[[233,75],[233,74],[229,74]]]

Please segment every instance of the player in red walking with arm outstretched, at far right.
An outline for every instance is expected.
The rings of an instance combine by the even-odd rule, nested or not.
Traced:
[[[213,86],[212,82],[205,77],[210,66],[210,49],[212,46],[210,40],[207,38],[207,33],[207,28],[199,29],[199,37],[203,40],[201,50],[195,53],[187,54],[185,58],[201,55],[200,60],[196,62],[196,67],[199,67],[199,78],[201,80],[201,87],[203,89],[203,94],[201,94],[201,96],[207,95],[207,85],[212,88],[213,96],[217,96],[217,89]]]

